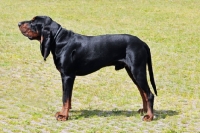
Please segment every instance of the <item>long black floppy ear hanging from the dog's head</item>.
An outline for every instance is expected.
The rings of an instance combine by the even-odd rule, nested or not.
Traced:
[[[51,31],[43,29],[41,35],[41,44],[40,44],[41,54],[46,61],[46,58],[49,56],[51,51]]]

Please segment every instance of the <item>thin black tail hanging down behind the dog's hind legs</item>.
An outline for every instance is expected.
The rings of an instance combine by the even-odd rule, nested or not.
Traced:
[[[149,70],[149,76],[150,76],[150,81],[151,81],[151,85],[153,87],[154,93],[157,96],[157,90],[156,90],[156,84],[155,84],[155,80],[154,80],[154,75],[153,75],[153,68],[152,68],[152,61],[151,61],[151,52],[150,52],[150,48],[148,47],[148,45],[145,45],[146,51],[147,51],[147,65],[148,65],[148,70]]]

